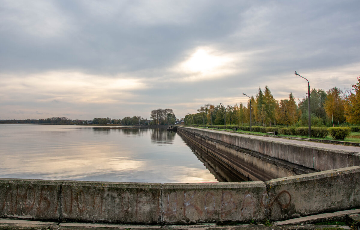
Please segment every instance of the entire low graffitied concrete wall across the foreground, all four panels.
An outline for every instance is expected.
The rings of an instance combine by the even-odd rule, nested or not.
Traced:
[[[195,224],[284,220],[360,207],[360,167],[266,182],[112,183],[0,179],[0,218]]]

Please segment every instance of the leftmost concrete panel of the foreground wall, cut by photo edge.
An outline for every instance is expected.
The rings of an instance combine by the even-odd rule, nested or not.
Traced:
[[[59,219],[61,183],[55,180],[0,178],[0,217]]]

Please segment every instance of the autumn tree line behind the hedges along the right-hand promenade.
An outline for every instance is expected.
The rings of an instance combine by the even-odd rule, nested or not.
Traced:
[[[328,91],[324,89],[311,89],[310,116],[311,126],[339,126],[344,123],[360,124],[360,75],[357,83],[352,87],[354,92],[333,87]],[[296,102],[292,93],[288,99],[275,100],[269,87],[264,91],[259,87],[255,97],[251,96],[246,105],[243,103],[231,105],[201,106],[196,114],[185,116],[185,125],[245,125],[250,123],[258,126],[307,126],[308,100],[305,97]],[[226,121],[224,121],[226,119]]]

